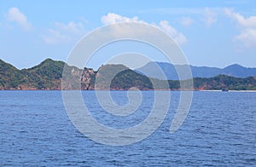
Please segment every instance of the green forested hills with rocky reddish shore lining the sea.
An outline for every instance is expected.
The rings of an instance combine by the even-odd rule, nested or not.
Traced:
[[[62,78],[65,63],[44,60],[38,66],[19,70],[0,60],[0,89],[61,89],[61,80],[65,89],[180,89],[177,80],[148,78],[123,65],[101,66],[98,71],[75,66],[67,66],[72,79]],[[79,83],[79,88],[73,82]],[[186,82],[186,81],[183,81]],[[213,78],[193,78],[194,89],[256,90],[256,77],[235,78],[218,75]]]

